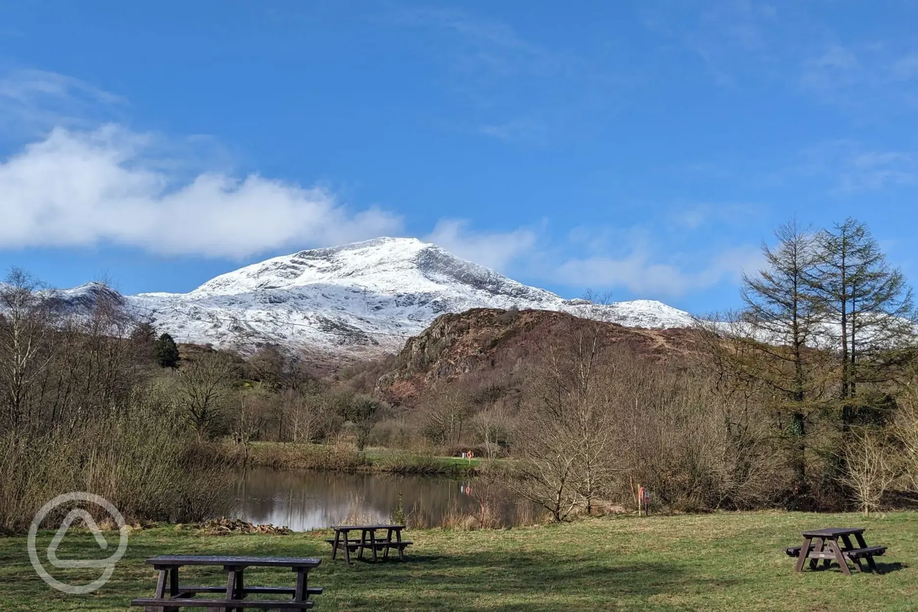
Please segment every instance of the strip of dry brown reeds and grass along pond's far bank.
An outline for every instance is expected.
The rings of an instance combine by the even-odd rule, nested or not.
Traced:
[[[226,455],[228,462],[275,470],[376,472],[463,478],[474,476],[486,468],[499,469],[501,465],[501,462],[488,464],[480,459],[438,457],[414,451],[355,451],[347,445],[333,444],[257,442],[248,447],[222,444],[217,448]]]

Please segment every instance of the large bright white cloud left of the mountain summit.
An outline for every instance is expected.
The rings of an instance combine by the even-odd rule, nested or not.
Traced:
[[[329,192],[203,172],[147,157],[151,139],[114,125],[56,128],[0,162],[0,248],[113,243],[155,253],[243,258],[397,233],[375,207],[353,213]]]

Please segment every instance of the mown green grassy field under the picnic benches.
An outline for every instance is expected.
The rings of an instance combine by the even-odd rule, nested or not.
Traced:
[[[885,573],[845,576],[835,567],[794,573],[782,549],[799,544],[802,529],[830,526],[866,527],[868,543],[888,545],[878,560]],[[133,532],[111,581],[90,595],[51,590],[32,570],[26,538],[0,538],[0,609],[129,609],[131,597],[152,594],[154,575],[145,558],[210,553],[321,557],[310,574],[310,584],[325,587],[316,597],[319,610],[918,610],[916,513],[870,519],[722,513],[596,518],[503,531],[411,530],[415,545],[406,562],[351,567],[331,562],[322,541],[328,533],[216,537],[172,527]],[[39,551],[52,535],[39,534]],[[107,556],[88,533],[73,532],[59,554],[88,557],[91,551]],[[54,575],[82,575],[84,582],[99,575],[85,572]],[[185,575],[222,582],[219,573],[189,569]],[[246,582],[287,584],[292,577],[252,571]]]

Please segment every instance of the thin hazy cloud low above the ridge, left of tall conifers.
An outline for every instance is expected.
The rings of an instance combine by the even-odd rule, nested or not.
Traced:
[[[648,250],[633,250],[621,258],[571,259],[561,264],[555,274],[557,281],[565,284],[625,287],[635,295],[677,296],[707,289],[722,280],[735,282],[744,270],[756,270],[761,254],[751,246],[737,247],[711,258],[696,270],[656,259]]]

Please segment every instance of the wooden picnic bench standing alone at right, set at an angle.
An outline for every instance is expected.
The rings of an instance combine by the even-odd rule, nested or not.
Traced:
[[[857,541],[857,546],[852,544],[852,536]],[[839,539],[842,540],[841,545],[838,543]],[[819,566],[820,561],[823,562],[823,568],[828,567],[832,562],[837,562],[842,572],[850,575],[849,561],[855,564],[858,572],[865,571],[862,561],[867,562],[866,571],[877,572],[877,563],[873,558],[885,553],[886,547],[868,546],[864,540],[864,529],[833,527],[804,531],[803,545],[792,546],[784,551],[789,557],[797,557],[795,568],[797,572],[803,571],[803,565],[809,559],[812,570]]]

